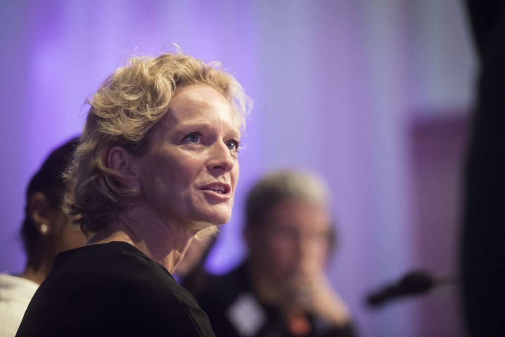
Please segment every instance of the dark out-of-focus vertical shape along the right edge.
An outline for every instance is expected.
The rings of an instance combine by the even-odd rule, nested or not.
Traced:
[[[471,336],[504,336],[505,2],[467,4],[481,70],[466,171],[463,300]]]

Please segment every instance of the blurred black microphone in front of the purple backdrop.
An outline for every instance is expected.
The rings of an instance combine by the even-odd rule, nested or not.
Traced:
[[[393,299],[426,293],[444,282],[446,280],[436,278],[429,272],[414,270],[403,276],[399,282],[370,293],[367,302],[369,306],[378,307]]]

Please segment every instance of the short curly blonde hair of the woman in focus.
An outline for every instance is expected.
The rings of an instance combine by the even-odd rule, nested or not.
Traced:
[[[207,64],[181,52],[130,58],[88,100],[91,107],[66,173],[70,189],[65,198],[67,213],[84,233],[105,228],[139,193],[122,186],[118,173],[107,167],[109,149],[144,152],[149,130],[167,113],[176,88],[198,83],[220,92],[245,126],[251,101],[240,84],[219,63]]]

